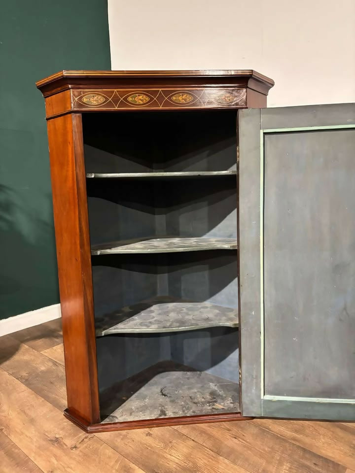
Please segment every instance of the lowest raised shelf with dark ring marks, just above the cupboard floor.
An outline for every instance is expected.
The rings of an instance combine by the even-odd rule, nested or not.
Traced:
[[[98,337],[126,333],[182,332],[238,325],[238,309],[170,296],[147,299],[95,319]]]

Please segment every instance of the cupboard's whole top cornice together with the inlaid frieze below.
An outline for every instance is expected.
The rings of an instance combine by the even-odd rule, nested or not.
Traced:
[[[253,70],[61,71],[36,83],[46,98],[47,118],[81,110],[266,106],[273,85]]]

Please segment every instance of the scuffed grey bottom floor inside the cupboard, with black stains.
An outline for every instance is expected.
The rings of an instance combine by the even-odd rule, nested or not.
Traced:
[[[166,361],[114,384],[100,404],[103,423],[240,412],[239,385]]]

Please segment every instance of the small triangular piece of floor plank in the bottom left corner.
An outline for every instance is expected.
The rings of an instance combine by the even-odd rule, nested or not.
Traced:
[[[0,431],[1,473],[42,473],[42,470]]]

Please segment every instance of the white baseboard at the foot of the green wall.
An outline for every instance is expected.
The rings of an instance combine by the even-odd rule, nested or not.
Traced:
[[[0,320],[0,337],[61,317],[60,304],[48,305]]]

